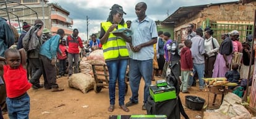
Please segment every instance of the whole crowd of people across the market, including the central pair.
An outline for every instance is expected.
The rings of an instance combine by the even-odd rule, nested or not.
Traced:
[[[52,89],[53,92],[63,91],[64,89],[56,83],[56,59],[59,60],[59,76],[79,73],[80,49],[85,53],[89,46],[91,51],[103,49],[109,72],[109,112],[114,111],[116,79],[119,86],[119,108],[129,112],[128,107],[139,103],[138,91],[142,78],[145,82],[142,110],[146,110],[145,104],[150,95],[151,80],[154,80],[154,70],[156,70],[155,76],[165,78],[169,75],[166,71],[171,69],[171,74],[181,81],[180,89],[183,93],[189,93],[191,86],[194,86],[195,75],[199,82],[198,91],[205,89],[204,77],[226,76],[228,81],[235,83],[239,83],[239,80],[244,78],[252,78],[253,70],[250,70],[249,76],[247,72],[249,72],[250,54],[255,52],[250,48],[249,40],[240,43],[237,30],[223,33],[221,35],[223,41],[219,44],[213,37],[213,30],[210,27],[204,30],[197,28],[194,31],[194,24],[190,23],[187,26],[186,40],[177,43],[176,40],[171,39],[171,33],[157,31],[155,21],[145,14],[146,10],[145,2],[137,3],[135,6],[137,18],[125,22],[123,15],[126,12],[122,6],[114,4],[106,22],[101,22],[99,38],[92,34],[92,40],[85,46],[79,37],[79,30],[74,29],[67,39],[64,39],[65,33],[62,29],[51,36],[49,30],[44,29],[43,21],[37,19],[33,26],[27,22],[23,23],[17,49],[9,49],[14,44],[14,35],[6,20],[0,18],[2,111],[6,112],[8,109],[9,118],[28,118],[30,103],[27,90],[32,87]],[[129,29],[132,34],[113,33],[114,30],[122,28]],[[242,60],[237,57],[242,57]],[[153,60],[156,60],[158,65],[157,68],[154,67],[155,69]],[[66,66],[67,61],[68,66]],[[125,76],[128,65],[132,96],[125,104]],[[19,76],[10,74],[19,74]],[[44,84],[40,84],[41,75]],[[20,102],[22,104],[19,104]]]

